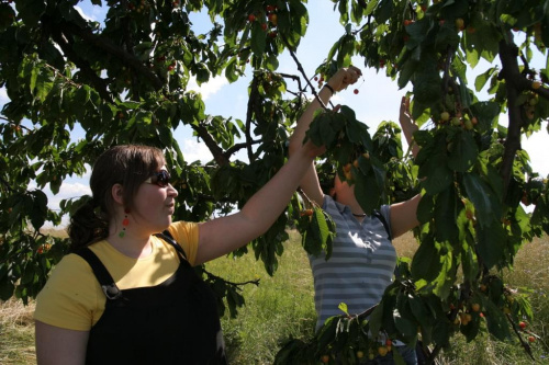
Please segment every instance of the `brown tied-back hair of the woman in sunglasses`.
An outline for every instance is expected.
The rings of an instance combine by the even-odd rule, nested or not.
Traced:
[[[123,145],[104,151],[93,164],[91,198],[70,217],[70,249],[74,251],[109,236],[114,184],[124,186],[124,205],[132,209],[139,185],[165,163],[163,151],[156,147]]]

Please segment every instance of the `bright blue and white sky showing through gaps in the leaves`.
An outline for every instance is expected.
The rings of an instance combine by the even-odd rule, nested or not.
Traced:
[[[81,2],[80,7],[85,16],[96,21],[102,21],[104,19],[107,7],[94,7],[87,2]],[[333,2],[327,0],[310,1],[307,10],[310,13],[310,24],[305,37],[301,41],[296,57],[303,65],[306,76],[311,78],[314,76],[316,67],[328,54],[332,45],[341,36],[344,30],[338,22],[337,13],[334,12]],[[208,18],[201,14],[193,14],[191,21],[198,26],[209,22]],[[206,30],[205,26],[204,30]],[[288,52],[280,57],[279,61],[280,66],[278,71],[300,75],[295,61],[290,57]],[[354,64],[362,70],[365,78],[363,82],[358,81],[352,88],[337,93],[332,98],[332,102],[334,104],[344,104],[351,107],[357,114],[357,119],[370,126],[370,132],[376,130],[377,126],[382,121],[396,122],[401,98],[410,87],[404,90],[399,90],[396,81],[388,78],[383,71],[377,73],[373,69],[365,68],[363,62],[359,58],[354,59]],[[545,59],[535,57],[530,66],[534,68],[542,68],[545,67]],[[475,70],[477,72],[482,72],[486,68],[488,62],[480,62]],[[469,82],[473,82],[473,73],[475,70],[472,70],[472,73],[468,75]],[[246,103],[248,100],[247,88],[250,81],[250,73],[251,68],[248,68],[246,70],[246,77],[240,78],[234,83],[228,83],[225,78],[219,77],[211,80],[208,84],[203,84],[201,88],[199,88],[197,83],[191,83],[189,89],[199,91],[202,94],[206,106],[206,114],[223,115],[225,117],[232,116],[233,118],[244,121],[246,118]],[[288,88],[290,90],[298,89],[291,81],[288,82]],[[358,94],[352,92],[355,88],[359,89]],[[481,92],[479,98],[485,100],[488,95]],[[0,89],[0,107],[7,101],[8,96],[5,90]],[[503,116],[500,123],[506,125],[506,116]],[[546,123],[544,123],[544,127],[545,126]],[[211,159],[211,155],[205,145],[192,137],[192,130],[190,128],[180,127],[175,132],[173,136],[178,140],[187,161],[201,160],[205,162]],[[75,138],[81,136],[75,136]],[[534,170],[538,171],[542,176],[549,174],[549,159],[546,158],[546,146],[548,144],[549,135],[545,128],[530,138],[523,139],[523,148],[528,151]],[[246,160],[245,156],[237,155],[236,158]],[[48,206],[53,209],[57,209],[59,202],[64,198],[89,194],[90,190],[88,182],[89,172],[83,176],[65,180],[57,195],[53,195],[46,189],[45,193],[48,196]],[[33,189],[35,185],[29,187]]]

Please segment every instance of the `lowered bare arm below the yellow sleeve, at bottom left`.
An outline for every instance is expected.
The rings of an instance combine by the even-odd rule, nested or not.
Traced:
[[[88,331],[66,330],[35,322],[36,361],[38,365],[83,365]]]

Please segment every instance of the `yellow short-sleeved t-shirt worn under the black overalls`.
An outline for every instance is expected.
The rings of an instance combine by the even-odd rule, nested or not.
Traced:
[[[197,258],[198,224],[177,221],[170,233],[183,248],[187,259]],[[168,242],[153,237],[153,252],[143,259],[132,259],[103,240],[90,246],[121,289],[159,285],[179,266],[176,250]],[[105,296],[88,262],[68,254],[52,271],[46,285],[36,297],[34,319],[69,330],[89,331],[101,318]]]

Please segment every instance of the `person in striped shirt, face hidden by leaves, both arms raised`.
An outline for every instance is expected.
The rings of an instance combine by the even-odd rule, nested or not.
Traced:
[[[340,69],[320,91],[320,99],[326,104],[335,92],[355,83],[360,76],[361,71],[356,67]],[[417,126],[410,118],[407,106],[408,101],[403,98],[400,123],[410,142]],[[299,150],[314,113],[320,107],[321,104],[315,99],[299,119],[290,139],[290,155]],[[416,152],[417,146],[414,146],[413,153]],[[326,319],[341,313],[339,303],[347,305],[349,313],[357,315],[381,300],[385,287],[392,282],[396,265],[396,252],[391,239],[419,224],[416,209],[421,196],[382,206],[380,215],[384,218],[383,223],[379,216],[363,212],[355,197],[355,185],[341,182],[337,174],[329,191],[323,191],[314,162],[300,185],[309,199],[329,214],[336,224],[329,260],[326,261],[324,254],[310,256],[315,288],[316,329],[320,329]],[[407,358],[407,363],[416,364],[415,351],[400,344],[402,349],[399,349],[399,343],[395,345],[403,357]]]

